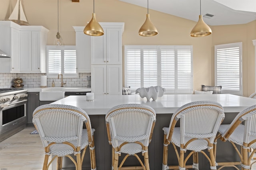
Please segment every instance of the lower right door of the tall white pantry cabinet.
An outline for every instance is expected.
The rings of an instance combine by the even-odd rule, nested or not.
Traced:
[[[122,65],[107,65],[107,94],[122,95]]]

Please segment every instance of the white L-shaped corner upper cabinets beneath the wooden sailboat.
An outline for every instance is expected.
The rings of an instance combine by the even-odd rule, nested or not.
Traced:
[[[18,25],[0,21],[0,49],[11,55],[11,73],[46,73],[46,42],[48,29],[43,26]],[[6,39],[6,45],[2,39]]]

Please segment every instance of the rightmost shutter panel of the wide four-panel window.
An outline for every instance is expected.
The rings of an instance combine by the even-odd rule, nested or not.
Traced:
[[[192,92],[192,49],[176,46],[177,53],[177,92]]]

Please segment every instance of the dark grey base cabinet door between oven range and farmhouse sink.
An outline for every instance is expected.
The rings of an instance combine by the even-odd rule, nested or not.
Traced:
[[[39,92],[28,92],[27,123],[33,123],[33,112],[39,106]]]

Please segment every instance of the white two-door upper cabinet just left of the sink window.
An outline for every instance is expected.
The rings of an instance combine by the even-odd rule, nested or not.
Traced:
[[[26,26],[20,31],[20,73],[46,73],[46,41],[48,29]],[[13,71],[13,70],[12,70]]]

